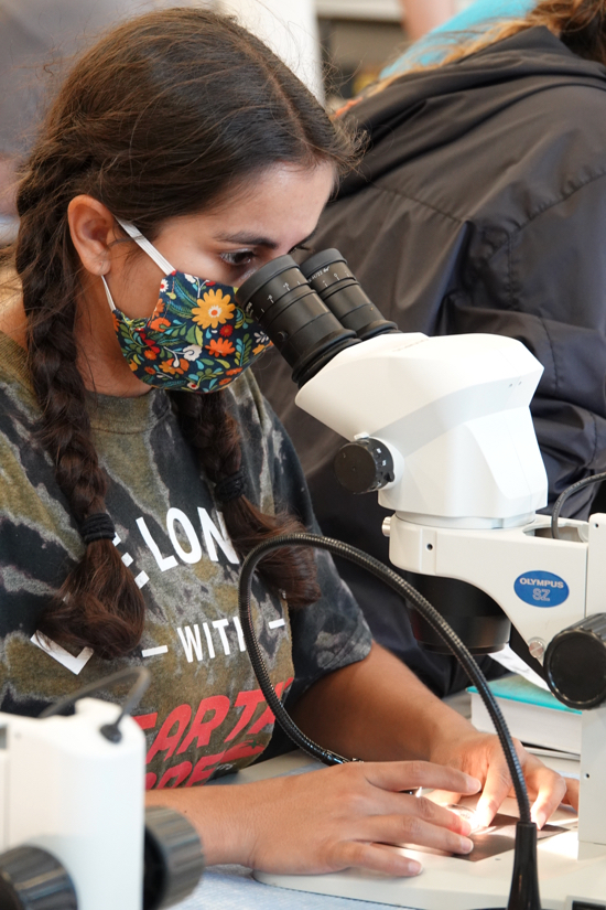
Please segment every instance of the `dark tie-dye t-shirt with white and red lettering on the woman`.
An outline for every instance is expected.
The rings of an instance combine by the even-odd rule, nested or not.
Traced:
[[[249,497],[268,513],[288,506],[317,529],[290,440],[250,373],[226,394]],[[152,683],[136,715],[148,739],[148,788],[199,784],[250,763],[272,732],[238,620],[238,559],[167,395],[90,395],[88,409],[110,479],[115,544],[147,602],[144,634],[131,656],[109,662],[89,649],[75,654],[51,643],[45,651],[32,641],[40,611],[84,545],[34,436],[39,409],[24,351],[0,335],[0,707],[35,716],[108,673],[144,665]],[[257,634],[281,695],[294,697],[370,649],[331,558],[317,552],[316,560],[323,597],[307,608],[289,612],[261,580],[253,584]]]

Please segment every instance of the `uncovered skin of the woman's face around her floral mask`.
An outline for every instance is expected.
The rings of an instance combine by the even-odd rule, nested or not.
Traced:
[[[266,263],[309,239],[334,181],[327,163],[313,170],[274,165],[213,212],[165,222],[153,245],[177,271],[239,287]],[[127,315],[151,315],[163,275],[144,253],[127,255],[131,249],[132,244],[111,247],[106,280]]]

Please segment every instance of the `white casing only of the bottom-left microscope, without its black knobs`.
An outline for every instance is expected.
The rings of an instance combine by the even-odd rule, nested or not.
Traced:
[[[145,740],[125,717],[120,742],[108,741],[100,728],[119,714],[95,698],[72,717],[0,714],[0,854],[47,850],[68,872],[77,910],[142,906]],[[63,900],[52,906],[76,906]]]

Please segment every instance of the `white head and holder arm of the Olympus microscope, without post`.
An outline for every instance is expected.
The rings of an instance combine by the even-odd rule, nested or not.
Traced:
[[[380,486],[379,503],[396,513],[383,525],[391,561],[480,588],[527,642],[549,641],[584,614],[586,545],[553,547],[541,536],[548,521],[535,517],[547,475],[529,404],[541,373],[508,338],[386,334],[337,354],[296,396],[354,441],[338,462],[349,489],[361,492],[369,440],[389,461],[370,489]],[[542,567],[543,553],[548,571],[570,559],[573,597],[555,611],[530,611],[513,581]],[[538,597],[547,593],[549,586]]]

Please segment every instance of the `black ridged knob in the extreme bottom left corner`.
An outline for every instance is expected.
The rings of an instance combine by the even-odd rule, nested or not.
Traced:
[[[2,910],[77,910],[72,879],[52,854],[23,846],[0,855]]]

